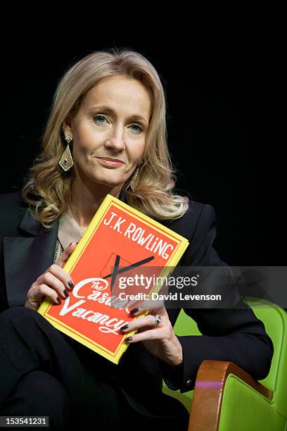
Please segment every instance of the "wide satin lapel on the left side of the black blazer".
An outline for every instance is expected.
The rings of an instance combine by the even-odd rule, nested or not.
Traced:
[[[18,225],[20,236],[4,237],[4,268],[8,306],[23,306],[37,277],[53,263],[58,235],[56,220],[49,229],[32,217],[29,208]]]

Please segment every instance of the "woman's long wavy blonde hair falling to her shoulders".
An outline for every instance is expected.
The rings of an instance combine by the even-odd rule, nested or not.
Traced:
[[[76,115],[84,97],[103,77],[132,77],[147,89],[152,115],[146,135],[143,163],[129,177],[123,190],[127,203],[158,220],[180,218],[189,199],[174,194],[175,171],[167,148],[166,102],[160,77],[153,65],[131,49],[95,51],[77,61],[63,75],[53,96],[53,104],[42,139],[42,152],[29,170],[22,189],[24,201],[44,227],[62,214],[70,203],[72,175],[60,170],[58,162],[67,142],[63,122]]]

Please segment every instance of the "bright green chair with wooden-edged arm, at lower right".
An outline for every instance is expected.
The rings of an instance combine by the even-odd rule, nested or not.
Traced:
[[[190,411],[189,431],[287,429],[287,313],[269,301],[251,297],[244,300],[262,320],[274,344],[269,375],[257,382],[234,363],[203,361],[193,391],[181,394],[162,382],[162,392],[179,399]],[[196,322],[183,310],[174,325],[174,332],[177,335],[201,335]],[[212,386],[208,387],[211,381]],[[214,385],[214,382],[218,384]]]

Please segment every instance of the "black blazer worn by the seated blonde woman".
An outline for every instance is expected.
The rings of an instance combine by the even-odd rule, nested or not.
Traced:
[[[121,199],[125,200],[123,194]],[[1,194],[0,208],[0,311],[4,311],[12,306],[23,306],[32,283],[53,263],[58,220],[50,229],[42,227],[32,218],[20,192]],[[216,217],[209,204],[190,201],[189,211],[183,217],[161,223],[189,239],[189,247],[179,265],[227,265],[212,247]],[[172,325],[179,311],[179,308],[167,309]],[[256,380],[267,376],[273,344],[262,321],[250,308],[186,308],[184,311],[196,320],[203,335],[178,337],[184,357],[180,368],[174,369],[160,361],[141,343],[131,344],[115,366],[75,340],[71,342],[82,352],[83,358],[88,357],[88,362],[98,361],[99,366],[108,368],[111,378],[120,382],[122,392],[134,408],[144,411],[149,400],[149,411],[153,409],[154,414],[160,414],[160,403],[155,403],[153,396],[162,394],[162,377],[171,389],[190,391],[198,367],[205,359],[232,361]]]

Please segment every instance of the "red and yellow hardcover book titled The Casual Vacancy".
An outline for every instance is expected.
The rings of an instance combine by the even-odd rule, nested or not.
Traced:
[[[158,280],[167,277],[188,245],[177,232],[108,194],[63,267],[74,289],[59,305],[45,298],[37,311],[118,364],[129,346],[125,338],[136,332],[120,327],[139,318],[129,311],[159,292]]]

